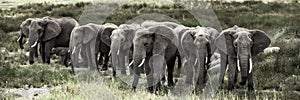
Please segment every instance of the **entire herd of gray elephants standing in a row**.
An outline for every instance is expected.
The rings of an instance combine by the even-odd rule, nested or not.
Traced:
[[[180,73],[186,75],[186,84],[205,84],[214,54],[221,55],[219,83],[223,83],[228,65],[228,90],[234,89],[240,71],[239,84],[247,83],[248,90],[252,91],[252,58],[271,42],[264,31],[236,25],[219,32],[211,27],[187,27],[152,20],[119,26],[113,23],[80,26],[69,17],[28,18],[20,29],[21,49],[24,48],[23,38],[29,38],[30,64],[38,57],[38,49],[43,63],[49,64],[51,54],[57,54],[65,66],[72,66],[74,73],[77,67],[99,71],[98,65],[106,71],[111,58],[113,76],[127,75],[129,69],[134,76],[132,87],[135,89],[140,74],[146,73],[150,92],[157,91],[166,79],[168,86],[176,85],[173,81],[176,61],[182,69]]]

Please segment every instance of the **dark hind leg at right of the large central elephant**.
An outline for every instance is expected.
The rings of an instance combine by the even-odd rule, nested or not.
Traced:
[[[173,81],[173,72],[174,72],[174,65],[176,61],[176,56],[171,57],[170,60],[167,62],[167,70],[168,70],[168,86],[174,86]],[[165,75],[163,75],[165,77]]]

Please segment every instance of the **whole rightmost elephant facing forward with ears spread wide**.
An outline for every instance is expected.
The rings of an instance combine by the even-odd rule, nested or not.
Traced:
[[[234,26],[222,31],[216,40],[217,48],[221,54],[221,74],[222,83],[226,66],[228,68],[228,90],[234,88],[237,81],[238,69],[241,71],[240,85],[248,82],[248,90],[254,90],[252,78],[252,57],[263,51],[269,46],[271,40],[264,31],[249,30]]]

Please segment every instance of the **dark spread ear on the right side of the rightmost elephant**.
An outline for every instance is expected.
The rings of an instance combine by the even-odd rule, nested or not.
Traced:
[[[271,40],[264,31],[249,30],[249,32],[252,34],[252,41],[253,41],[251,53],[252,53],[252,56],[255,56],[259,52],[261,52],[265,48],[267,48],[270,45]]]

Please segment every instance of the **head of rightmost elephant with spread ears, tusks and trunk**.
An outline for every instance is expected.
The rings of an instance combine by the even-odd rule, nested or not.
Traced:
[[[237,59],[242,79],[246,79],[252,73],[252,57],[267,48],[271,40],[264,31],[234,26],[222,31],[216,42],[219,50]]]

